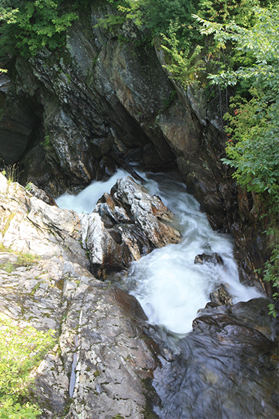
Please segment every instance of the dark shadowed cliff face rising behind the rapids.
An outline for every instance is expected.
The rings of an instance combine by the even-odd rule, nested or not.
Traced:
[[[1,158],[20,162],[22,183],[54,197],[109,176],[119,159],[146,170],[177,165],[211,226],[234,233],[243,277],[253,277],[264,257],[262,238],[247,197],[220,162],[218,119],[200,92],[169,80],[163,51],[145,29],[96,28],[108,12],[114,13],[92,6],[59,52],[17,57],[1,119]]]

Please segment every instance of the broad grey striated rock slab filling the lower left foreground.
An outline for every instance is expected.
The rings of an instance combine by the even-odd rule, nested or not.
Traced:
[[[57,344],[31,373],[41,419],[144,418],[142,380],[156,363],[130,296],[115,297],[62,258],[0,270],[0,293],[0,311],[15,324],[56,331]]]

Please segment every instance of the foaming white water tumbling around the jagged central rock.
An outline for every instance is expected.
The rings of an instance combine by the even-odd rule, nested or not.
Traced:
[[[56,203],[77,212],[91,212],[98,198],[110,192],[116,179],[124,175],[126,172],[119,171],[109,181],[93,182],[79,195],[65,194]],[[125,279],[127,288],[140,301],[149,322],[165,325],[179,334],[190,332],[197,310],[209,302],[209,293],[216,291],[221,283],[227,284],[234,303],[262,296],[256,288],[240,284],[232,240],[213,232],[197,201],[186,193],[186,187],[167,175],[152,177],[145,186],[174,212],[174,226],[183,240],[156,249],[130,266]],[[213,252],[223,258],[224,265],[194,263],[197,254]]]

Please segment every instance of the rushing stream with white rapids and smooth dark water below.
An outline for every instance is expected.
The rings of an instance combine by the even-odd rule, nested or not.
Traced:
[[[64,194],[56,203],[79,213],[92,212],[100,196],[126,175],[119,170],[107,182],[93,182],[79,195]],[[231,237],[212,230],[176,175],[141,176],[149,193],[160,196],[175,214],[173,226],[183,236],[179,244],[156,249],[131,263],[123,279],[123,288],[137,298],[149,319],[151,337],[163,348],[153,379],[163,401],[156,406],[156,414],[162,419],[276,418],[271,341],[237,323],[232,312],[222,307],[209,309],[206,316],[203,310],[193,330],[197,311],[220,284],[225,284],[233,304],[239,302],[233,309],[237,319],[257,318],[264,295],[239,282]],[[194,263],[202,253],[218,253],[224,263]],[[253,298],[257,300],[248,302]]]

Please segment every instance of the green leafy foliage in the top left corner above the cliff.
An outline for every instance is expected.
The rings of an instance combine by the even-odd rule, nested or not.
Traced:
[[[6,0],[0,3],[0,47],[9,54],[30,57],[42,48],[65,42],[65,31],[77,19],[61,0]]]

